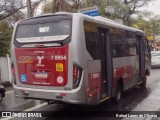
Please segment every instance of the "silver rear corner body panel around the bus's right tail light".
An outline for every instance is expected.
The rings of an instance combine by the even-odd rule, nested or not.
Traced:
[[[82,68],[82,76],[80,83],[77,88],[74,88],[74,91],[77,91],[75,94],[70,94],[67,96],[67,101],[71,103],[81,104],[87,103],[87,60],[91,59],[87,54],[86,45],[85,45],[85,36],[83,28],[83,17],[80,15],[73,14],[72,21],[72,38],[71,43],[69,44],[69,60],[68,60],[68,79],[70,84],[73,84],[73,65],[78,65]]]

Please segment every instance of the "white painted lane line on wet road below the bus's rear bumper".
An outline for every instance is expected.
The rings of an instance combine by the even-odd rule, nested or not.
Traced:
[[[48,105],[47,102],[42,103],[42,104],[39,104],[39,105],[36,105],[36,106],[34,106],[34,107],[31,107],[31,108],[28,108],[28,109],[24,110],[23,112],[33,111],[33,110],[35,110],[35,109],[41,108],[41,107],[46,106],[46,105]],[[13,111],[13,112],[14,112],[14,111]],[[21,112],[20,112],[20,113],[21,113]],[[6,118],[2,118],[2,119],[0,119],[0,120],[11,120],[11,119],[13,119],[13,118],[15,118],[15,117],[6,117]]]

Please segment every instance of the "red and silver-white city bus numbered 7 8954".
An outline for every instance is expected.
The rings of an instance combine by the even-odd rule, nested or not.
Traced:
[[[141,30],[81,13],[17,22],[11,55],[15,95],[48,102],[119,101],[123,91],[145,86],[151,69]]]

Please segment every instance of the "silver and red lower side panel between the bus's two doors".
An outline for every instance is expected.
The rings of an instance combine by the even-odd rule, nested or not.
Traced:
[[[113,58],[113,94],[118,80],[123,80],[123,90],[137,84],[137,57]]]

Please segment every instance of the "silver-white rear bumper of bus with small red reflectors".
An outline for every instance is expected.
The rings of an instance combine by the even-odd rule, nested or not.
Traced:
[[[13,84],[13,87],[16,97],[72,104],[87,104],[86,94],[82,87],[78,87],[71,91],[24,88],[18,87],[15,84]]]

